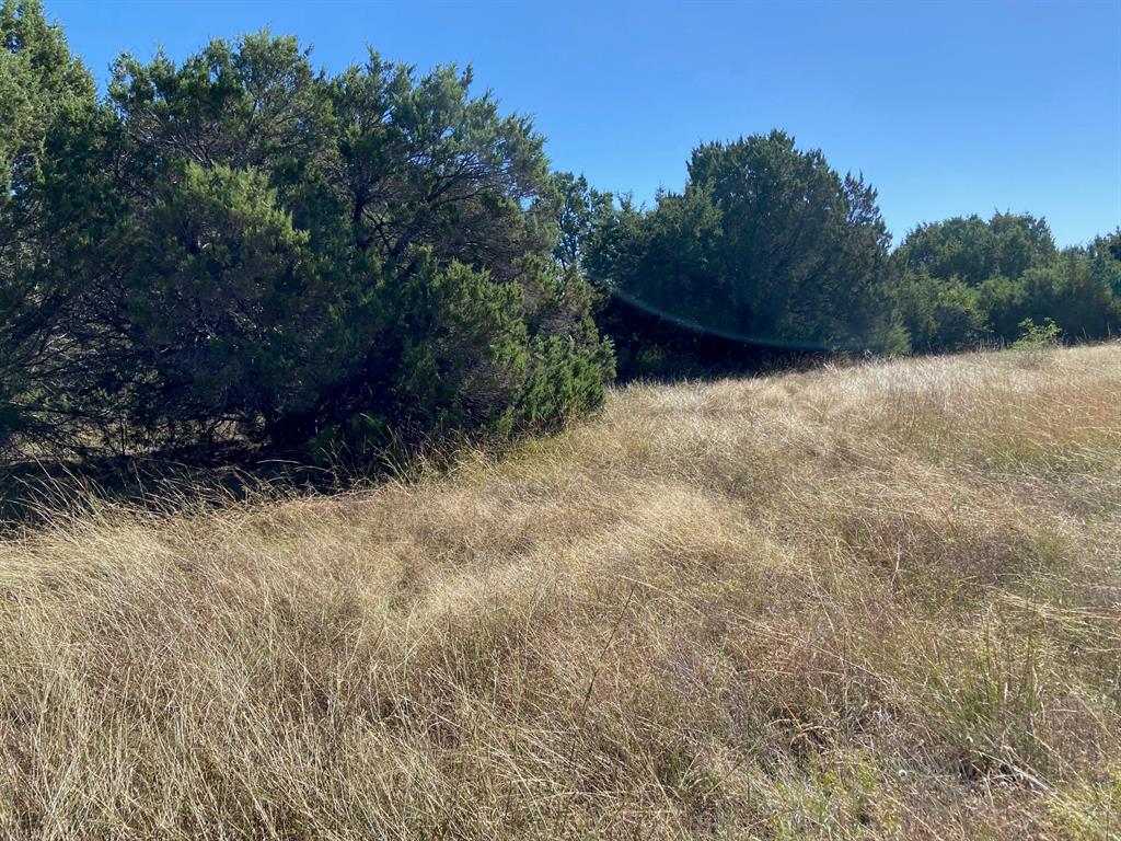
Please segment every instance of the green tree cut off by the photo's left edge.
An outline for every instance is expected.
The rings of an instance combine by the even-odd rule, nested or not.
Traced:
[[[70,151],[96,119],[93,80],[36,0],[0,6],[0,453],[65,437],[59,329],[90,198]],[[78,249],[80,251],[81,249]]]

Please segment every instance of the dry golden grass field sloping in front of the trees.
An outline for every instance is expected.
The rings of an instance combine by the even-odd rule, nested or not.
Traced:
[[[1121,344],[0,543],[0,837],[1121,834]]]

